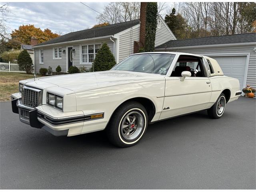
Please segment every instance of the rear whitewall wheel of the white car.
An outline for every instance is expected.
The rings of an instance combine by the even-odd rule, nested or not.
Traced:
[[[225,110],[226,107],[226,97],[222,93],[220,94],[218,100],[214,103],[214,105],[207,110],[208,116],[213,119],[218,119],[220,118]]]

